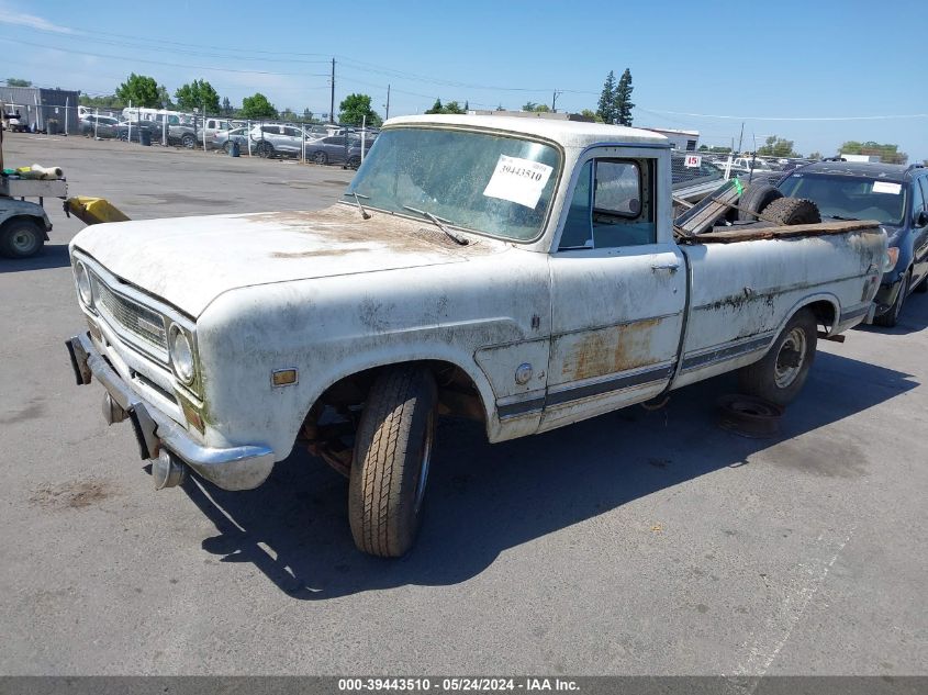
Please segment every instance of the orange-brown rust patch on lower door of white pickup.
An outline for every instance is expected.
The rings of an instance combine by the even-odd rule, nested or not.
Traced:
[[[577,381],[651,363],[651,337],[660,322],[660,318],[648,318],[585,334],[570,349],[561,375]]]

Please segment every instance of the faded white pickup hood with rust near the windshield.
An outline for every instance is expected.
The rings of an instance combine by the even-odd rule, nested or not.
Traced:
[[[343,204],[93,225],[71,242],[110,272],[198,317],[230,290],[344,274],[463,262],[508,245],[459,246],[429,222]]]

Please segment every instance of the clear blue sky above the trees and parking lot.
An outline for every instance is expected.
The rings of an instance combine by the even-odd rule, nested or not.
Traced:
[[[559,110],[595,109],[606,74],[627,67],[636,125],[698,130],[702,143],[720,145],[745,120],[746,148],[773,134],[826,155],[847,139],[873,139],[920,161],[926,27],[926,0],[0,0],[9,72],[0,79],[97,94],[130,71],[171,93],[205,78],[234,104],[260,91],[279,109],[321,114],[335,57],[336,110],[364,92],[383,115],[390,83],[390,113],[400,115],[436,97],[471,108],[550,105],[556,89]]]

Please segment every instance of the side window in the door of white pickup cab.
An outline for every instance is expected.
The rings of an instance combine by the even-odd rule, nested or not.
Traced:
[[[573,189],[560,248],[657,243],[653,189],[653,159],[588,161]]]

